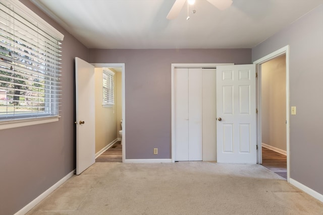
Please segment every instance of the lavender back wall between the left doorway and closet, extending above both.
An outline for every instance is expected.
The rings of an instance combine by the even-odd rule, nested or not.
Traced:
[[[171,63],[246,64],[251,49],[89,49],[89,62],[125,63],[126,159],[170,159]]]

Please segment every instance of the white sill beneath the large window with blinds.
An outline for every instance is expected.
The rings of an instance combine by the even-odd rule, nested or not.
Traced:
[[[59,116],[0,122],[0,130],[59,121]]]

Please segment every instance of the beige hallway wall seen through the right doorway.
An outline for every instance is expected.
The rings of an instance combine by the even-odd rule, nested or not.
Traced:
[[[261,64],[261,141],[286,151],[286,56]]]

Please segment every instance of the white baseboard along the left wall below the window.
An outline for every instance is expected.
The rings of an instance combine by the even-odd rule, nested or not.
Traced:
[[[29,202],[26,206],[21,208],[18,212],[15,213],[15,215],[24,215],[29,210],[31,210],[36,204],[38,204],[40,201],[42,201],[44,198],[46,198],[52,191],[56,190],[59,186],[61,186],[65,181],[67,181],[69,178],[71,178],[74,175],[74,171],[67,174],[64,178],[56,182],[56,184],[49,187],[45,192],[41,193],[38,197],[36,197],[34,200]]]

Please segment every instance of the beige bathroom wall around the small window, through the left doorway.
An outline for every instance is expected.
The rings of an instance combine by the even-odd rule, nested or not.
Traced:
[[[102,68],[95,68],[95,153],[115,140],[117,136],[117,104],[102,107]],[[116,96],[116,75],[115,75]]]

